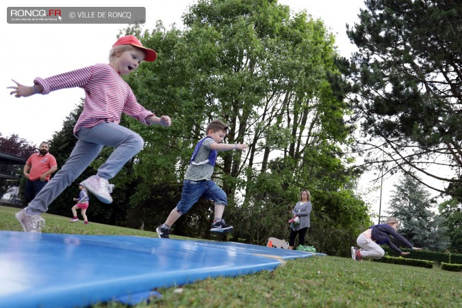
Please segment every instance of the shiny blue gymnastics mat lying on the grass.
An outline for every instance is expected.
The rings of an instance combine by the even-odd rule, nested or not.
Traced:
[[[235,242],[0,231],[0,307],[85,307],[313,255]]]

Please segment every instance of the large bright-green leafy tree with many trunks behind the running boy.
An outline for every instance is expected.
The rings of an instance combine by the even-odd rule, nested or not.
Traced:
[[[140,33],[159,58],[127,78],[142,105],[173,118],[170,129],[140,127],[146,147],[134,168],[144,180],[132,204],[152,203],[149,192],[163,183],[181,185],[203,128],[220,118],[231,128],[226,142],[249,144],[244,155],[222,153],[214,174],[229,196],[225,216],[239,224],[236,240],[261,244],[285,233],[301,188],[323,194],[329,206],[313,211],[335,221],[326,225],[365,223],[367,207],[352,193],[357,175],[345,168],[349,110],[335,89],[334,40],[322,21],[274,0],[213,0],[192,5],[183,22],[183,31],[158,23]],[[166,190],[178,200],[175,191]]]

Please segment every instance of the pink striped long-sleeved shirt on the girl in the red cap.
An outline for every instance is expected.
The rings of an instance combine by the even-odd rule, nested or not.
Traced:
[[[136,101],[130,86],[110,64],[95,64],[45,79],[37,77],[34,84],[42,86],[42,94],[64,88],[85,90],[84,110],[75,124],[74,133],[101,122],[118,124],[122,113],[145,125],[150,125],[146,118],[154,115]]]

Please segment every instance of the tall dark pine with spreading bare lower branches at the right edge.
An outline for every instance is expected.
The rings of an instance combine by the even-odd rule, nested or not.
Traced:
[[[384,151],[385,175],[431,177],[439,185],[420,183],[462,196],[460,1],[365,0],[365,7],[347,33],[359,48],[350,66],[352,120],[370,136],[360,142],[366,164]]]

